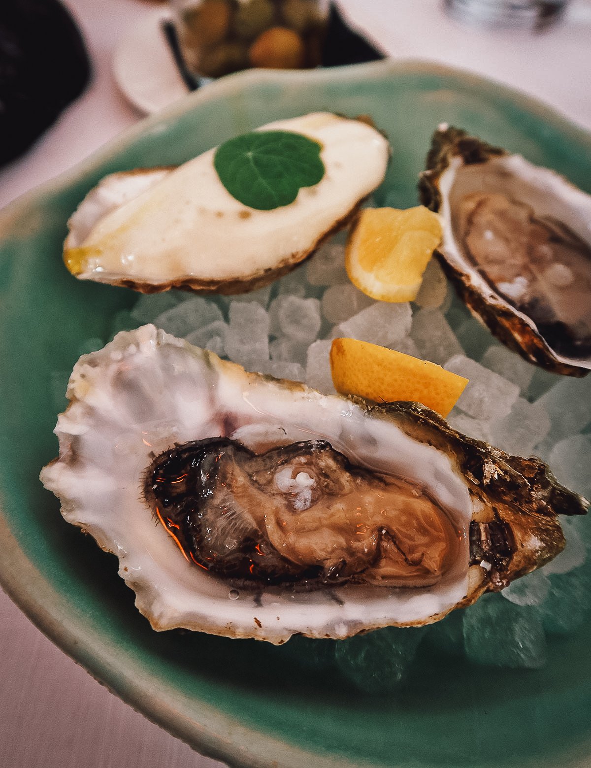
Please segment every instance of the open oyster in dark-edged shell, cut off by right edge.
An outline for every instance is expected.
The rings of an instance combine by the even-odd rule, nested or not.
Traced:
[[[569,376],[591,369],[591,197],[465,131],[434,134],[422,202],[462,300],[503,343]]]

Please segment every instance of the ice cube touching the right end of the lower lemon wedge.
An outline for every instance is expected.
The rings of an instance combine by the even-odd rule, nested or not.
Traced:
[[[490,420],[506,416],[519,395],[517,384],[464,355],[454,355],[447,360],[444,368],[469,379],[457,407],[474,416],[474,419]]]

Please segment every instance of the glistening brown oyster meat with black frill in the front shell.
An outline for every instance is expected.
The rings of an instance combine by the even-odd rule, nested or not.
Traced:
[[[181,445],[155,460],[144,495],[186,557],[236,586],[424,587],[462,538],[416,485],[325,440],[262,454],[227,438]]]

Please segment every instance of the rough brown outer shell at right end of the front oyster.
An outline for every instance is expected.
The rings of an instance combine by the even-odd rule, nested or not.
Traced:
[[[474,507],[470,565],[482,560],[491,565],[480,594],[503,589],[562,551],[557,515],[584,514],[588,502],[560,485],[539,458],[512,456],[462,435],[419,403],[377,407],[396,413],[397,424],[414,439],[450,455],[466,478]],[[476,599],[470,598],[466,604]]]

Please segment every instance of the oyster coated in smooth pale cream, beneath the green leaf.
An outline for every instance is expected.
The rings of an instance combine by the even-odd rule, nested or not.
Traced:
[[[388,141],[364,121],[320,112],[259,131],[302,134],[320,144],[321,180],[299,189],[289,205],[256,210],[224,187],[214,149],[177,168],[111,174],[70,219],[68,269],[80,280],[144,293],[254,290],[344,226],[384,178]]]

